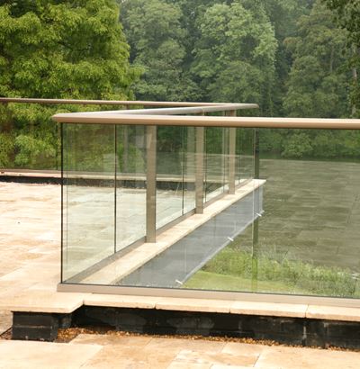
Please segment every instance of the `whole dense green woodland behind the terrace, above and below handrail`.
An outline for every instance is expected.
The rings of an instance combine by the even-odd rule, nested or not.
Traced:
[[[359,50],[358,0],[0,0],[0,96],[258,103],[263,116],[358,117]],[[49,117],[76,107],[0,110],[0,166],[54,166]],[[360,134],[262,130],[261,148],[359,157]]]

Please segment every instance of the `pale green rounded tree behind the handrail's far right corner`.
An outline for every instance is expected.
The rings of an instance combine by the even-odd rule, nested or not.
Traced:
[[[203,98],[260,103],[263,113],[272,114],[277,43],[264,7],[246,9],[239,0],[214,4],[197,24],[192,71]]]

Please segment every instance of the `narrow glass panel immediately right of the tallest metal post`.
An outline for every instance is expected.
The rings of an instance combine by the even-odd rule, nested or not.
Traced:
[[[157,229],[183,215],[184,127],[157,127]]]

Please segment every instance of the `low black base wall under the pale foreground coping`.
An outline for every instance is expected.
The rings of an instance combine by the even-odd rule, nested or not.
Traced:
[[[14,312],[13,339],[53,341],[59,328],[89,326],[145,334],[254,338],[304,347],[360,349],[360,322],[90,306],[67,315]]]

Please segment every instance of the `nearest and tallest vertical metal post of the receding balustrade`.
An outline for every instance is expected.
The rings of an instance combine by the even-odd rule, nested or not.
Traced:
[[[147,127],[146,241],[157,241],[157,127]]]

